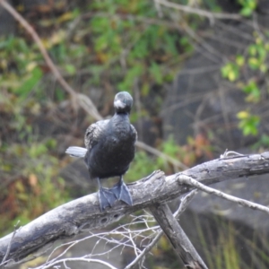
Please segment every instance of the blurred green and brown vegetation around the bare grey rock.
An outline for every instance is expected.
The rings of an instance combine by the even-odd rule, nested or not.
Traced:
[[[103,117],[113,113],[117,91],[130,91],[135,102],[131,121],[139,128],[139,119],[148,118],[156,127],[152,146],[186,166],[213,158],[210,136],[188,137],[185,145],[178,145],[173,137],[163,141],[160,117],[166,89],[195,51],[189,30],[206,30],[207,18],[165,7],[160,11],[150,0],[26,3],[13,4],[38,32],[65,80],[90,96]],[[217,0],[177,3],[223,12]],[[251,21],[257,1],[239,0],[235,9]],[[259,133],[265,115],[254,112],[268,94],[267,83],[260,88],[261,81],[268,81],[268,37],[268,30],[254,31],[247,51],[220,69],[224,79],[245,93],[249,109],[239,111],[238,128],[256,138],[256,149],[269,143],[267,134]],[[244,77],[246,68],[254,71],[253,76]],[[0,38],[0,87],[0,232],[4,234],[12,230],[12,223],[24,224],[74,198],[59,176],[72,161],[65,148],[82,145],[84,130],[94,119],[73,106],[39,47],[19,24]],[[126,179],[143,178],[154,169],[169,174],[178,167],[139,150]],[[210,268],[240,268],[237,249],[232,248],[233,232],[220,238],[234,255],[215,249],[215,259],[208,256]],[[163,240],[160,246],[165,253],[169,244]]]

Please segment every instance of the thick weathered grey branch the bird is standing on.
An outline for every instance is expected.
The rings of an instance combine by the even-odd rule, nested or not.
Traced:
[[[204,185],[266,173],[269,173],[269,152],[222,157],[184,171],[185,175]],[[12,237],[6,262],[22,260],[57,239],[67,239],[85,230],[100,229],[138,209],[163,204],[186,194],[192,187],[180,184],[179,176],[180,173],[165,177],[163,172],[155,171],[151,176],[128,185],[134,199],[133,206],[117,202],[113,208],[100,213],[97,194],[86,195],[58,206],[17,230],[14,237],[11,233],[0,239],[0,261],[3,260]]]

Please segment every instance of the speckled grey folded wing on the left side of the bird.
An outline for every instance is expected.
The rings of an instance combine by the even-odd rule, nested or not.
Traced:
[[[100,120],[87,128],[84,136],[84,143],[87,150],[91,150],[91,148],[99,142],[100,134],[105,126],[107,126],[108,121],[109,119]]]

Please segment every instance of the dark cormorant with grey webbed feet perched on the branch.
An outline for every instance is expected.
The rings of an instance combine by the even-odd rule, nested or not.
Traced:
[[[84,157],[90,178],[98,179],[101,211],[116,200],[133,204],[122,178],[134,159],[134,143],[137,138],[134,126],[129,121],[132,105],[133,98],[128,92],[117,93],[114,100],[115,115],[92,124],[86,130],[86,149],[70,147],[66,150],[71,156]],[[117,176],[120,177],[117,185],[110,189],[101,187],[100,179]]]

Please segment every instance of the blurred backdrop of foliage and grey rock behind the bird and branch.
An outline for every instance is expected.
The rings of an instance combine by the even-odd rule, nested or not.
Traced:
[[[268,0],[8,3],[101,117],[113,115],[117,91],[132,94],[131,122],[139,141],[151,148],[137,149],[126,182],[154,169],[173,174],[226,149],[267,151]],[[18,220],[23,225],[96,190],[83,161],[65,155],[69,145],[83,146],[84,132],[96,120],[56,80],[30,32],[0,2],[2,236]],[[268,184],[263,176],[214,187],[267,205]],[[178,201],[170,206],[175,210]],[[209,268],[269,266],[264,213],[199,194],[180,223]],[[164,237],[152,254],[148,268],[183,267]],[[123,256],[122,266],[130,254]]]

